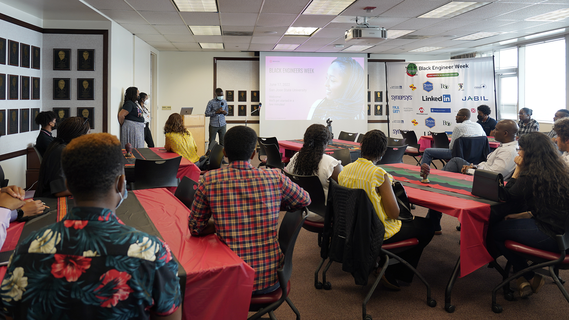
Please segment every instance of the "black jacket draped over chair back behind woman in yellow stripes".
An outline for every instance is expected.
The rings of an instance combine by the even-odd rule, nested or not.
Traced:
[[[364,190],[342,187],[333,180],[326,210],[320,256],[340,262],[356,285],[367,285],[384,242],[384,224]]]

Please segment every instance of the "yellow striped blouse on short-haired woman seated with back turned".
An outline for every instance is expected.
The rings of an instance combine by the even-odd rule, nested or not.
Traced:
[[[384,183],[384,175],[386,171],[380,167],[376,167],[367,159],[359,158],[357,161],[349,163],[338,175],[340,186],[364,189],[368,194],[369,200],[376,209],[376,214],[385,226],[384,240],[389,239],[401,229],[401,220],[391,219],[384,210],[384,203],[381,202],[381,196],[377,193],[376,187]],[[389,182],[393,183],[393,177],[387,174]]]

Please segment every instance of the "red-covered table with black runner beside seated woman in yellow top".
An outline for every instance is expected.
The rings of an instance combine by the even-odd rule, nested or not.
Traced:
[[[170,159],[179,157],[180,155],[172,152],[167,151],[166,149],[159,148],[159,147],[152,147],[152,148],[133,148],[131,151],[131,155],[126,155],[126,150],[122,149],[122,154],[125,156],[127,163],[125,164],[125,175],[126,175],[126,182],[136,182],[136,178],[134,177],[134,163],[136,159],[145,159],[145,160],[161,160],[161,159]],[[188,159],[182,157],[180,160],[180,167],[178,168],[178,174],[176,174],[176,178],[188,177],[195,182],[199,182],[200,180],[200,172],[201,170],[195,165],[195,163],[189,161]],[[167,187],[167,189],[174,194],[176,192],[177,187]]]

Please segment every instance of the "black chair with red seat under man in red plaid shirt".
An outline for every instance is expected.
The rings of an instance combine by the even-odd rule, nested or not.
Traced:
[[[306,208],[295,212],[287,212],[284,215],[281,227],[279,228],[279,245],[281,251],[284,253],[284,263],[282,268],[277,270],[281,288],[266,294],[255,294],[251,296],[249,311],[258,312],[251,315],[248,320],[260,319],[267,313],[269,313],[271,319],[277,319],[274,310],[281,306],[284,301],[288,303],[290,309],[296,314],[296,320],[300,320],[300,313],[290,298],[288,298],[288,293],[290,292],[289,280],[292,274],[292,252],[294,251],[294,245],[296,243],[296,237],[298,237],[298,233],[300,232],[300,227],[307,215],[308,210]]]

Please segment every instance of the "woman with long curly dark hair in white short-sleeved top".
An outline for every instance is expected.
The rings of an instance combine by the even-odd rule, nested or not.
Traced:
[[[318,175],[324,199],[328,199],[328,183],[330,178],[338,182],[338,174],[342,171],[339,160],[324,153],[328,141],[332,139],[332,133],[324,125],[314,124],[304,132],[304,144],[300,151],[290,159],[287,171],[295,175]],[[347,163],[344,163],[347,165]],[[310,212],[306,218],[310,221],[324,221],[323,216]]]

